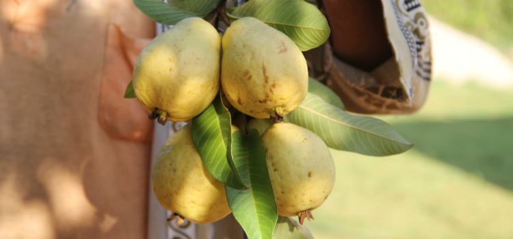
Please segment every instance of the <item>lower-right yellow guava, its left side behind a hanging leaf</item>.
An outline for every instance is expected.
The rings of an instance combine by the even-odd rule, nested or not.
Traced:
[[[273,124],[262,135],[278,214],[311,218],[334,186],[335,167],[326,143],[289,123]]]

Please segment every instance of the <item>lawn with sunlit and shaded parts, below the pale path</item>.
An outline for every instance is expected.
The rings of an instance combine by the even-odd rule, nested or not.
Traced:
[[[513,94],[434,81],[416,115],[382,116],[412,150],[370,157],[332,151],[335,188],[317,239],[513,238]]]

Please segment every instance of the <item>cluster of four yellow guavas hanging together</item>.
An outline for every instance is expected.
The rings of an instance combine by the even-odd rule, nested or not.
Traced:
[[[144,48],[132,82],[148,113],[173,122],[202,113],[222,86],[228,102],[254,118],[249,128],[261,133],[278,214],[313,210],[332,191],[334,163],[324,141],[300,126],[269,121],[304,100],[308,69],[298,46],[261,20],[240,18],[221,36],[207,21],[185,18]],[[190,126],[162,146],[151,182],[164,208],[194,223],[231,212],[224,184],[205,169]]]

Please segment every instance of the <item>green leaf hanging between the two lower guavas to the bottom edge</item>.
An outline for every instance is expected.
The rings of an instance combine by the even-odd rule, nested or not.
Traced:
[[[248,137],[240,131],[233,133],[233,157],[244,184],[250,188],[240,191],[226,186],[228,205],[248,238],[271,239],[278,208],[257,130],[251,130]]]

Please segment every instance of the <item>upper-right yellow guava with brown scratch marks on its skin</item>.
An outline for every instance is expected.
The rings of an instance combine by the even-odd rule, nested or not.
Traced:
[[[289,113],[306,97],[308,68],[298,46],[257,18],[235,20],[222,38],[221,84],[228,101],[255,118]]]

